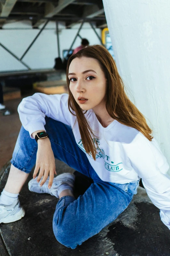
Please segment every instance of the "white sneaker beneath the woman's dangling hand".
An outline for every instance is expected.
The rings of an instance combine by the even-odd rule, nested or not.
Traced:
[[[29,190],[35,193],[48,193],[52,196],[56,196],[57,198],[59,198],[57,189],[60,185],[67,184],[72,188],[74,187],[75,176],[72,173],[62,173],[55,177],[53,179],[53,183],[50,189],[48,188],[49,178],[50,177],[47,178],[46,182],[41,187],[40,183],[43,177],[40,179],[39,183],[36,181],[36,179],[31,179],[28,182]]]

